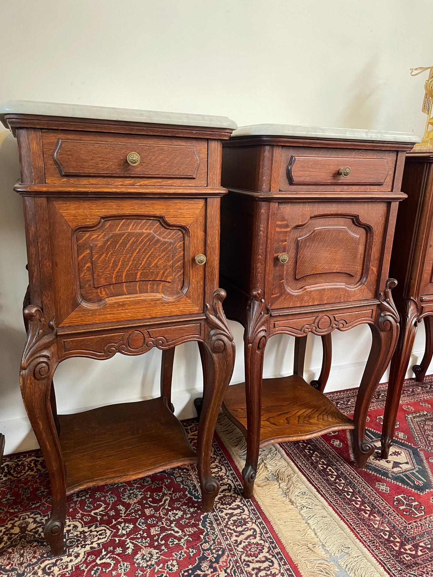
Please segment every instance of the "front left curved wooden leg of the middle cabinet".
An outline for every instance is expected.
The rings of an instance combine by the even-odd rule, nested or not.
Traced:
[[[254,481],[257,474],[257,463],[260,450],[260,429],[262,426],[262,381],[263,358],[269,334],[269,312],[265,310],[263,293],[253,290],[248,304],[247,326],[244,332],[245,350],[245,396],[247,399],[247,458],[242,469],[244,479],[244,497],[251,499]],[[298,342],[298,351],[302,357],[302,349],[307,342]],[[296,344],[295,344],[296,346]],[[305,350],[305,347],[304,347]],[[295,363],[296,361],[295,355]],[[301,370],[302,363],[298,364]],[[303,369],[302,369],[303,370]]]

